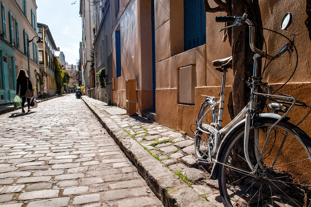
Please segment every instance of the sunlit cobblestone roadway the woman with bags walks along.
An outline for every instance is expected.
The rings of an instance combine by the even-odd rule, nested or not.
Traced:
[[[0,115],[0,207],[163,206],[74,94]]]

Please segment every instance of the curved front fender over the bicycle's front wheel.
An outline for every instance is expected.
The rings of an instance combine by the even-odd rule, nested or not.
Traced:
[[[257,118],[273,118],[273,119],[279,120],[281,117],[282,117],[282,115],[276,114],[276,113],[260,113],[260,114],[257,114],[254,118],[256,118],[256,119]],[[289,117],[284,117],[282,120],[288,121],[289,119],[290,119]],[[221,158],[221,155],[224,151],[224,148],[228,144],[228,140],[229,140],[227,137],[231,137],[242,126],[245,126],[245,118],[243,120],[239,121],[239,123],[237,123],[236,125],[234,125],[233,128],[231,128],[227,132],[225,137],[220,142],[220,145],[218,147],[218,151],[216,154],[215,162],[214,162],[214,165],[213,165],[213,168],[211,171],[211,179],[212,180],[216,180],[218,178],[220,158]]]

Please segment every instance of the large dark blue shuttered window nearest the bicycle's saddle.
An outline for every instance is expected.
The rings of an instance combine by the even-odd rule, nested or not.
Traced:
[[[206,12],[203,1],[183,0],[184,51],[206,44]]]

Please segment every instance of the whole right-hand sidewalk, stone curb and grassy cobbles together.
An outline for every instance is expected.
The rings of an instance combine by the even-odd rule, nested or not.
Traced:
[[[82,96],[164,206],[223,206],[218,181],[197,166],[194,139],[126,110]]]

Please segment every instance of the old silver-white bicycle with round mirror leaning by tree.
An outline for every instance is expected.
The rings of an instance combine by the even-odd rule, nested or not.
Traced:
[[[282,30],[287,31],[291,18],[290,13],[285,14]],[[249,26],[249,44],[255,53],[254,68],[253,76],[244,82],[250,87],[251,96],[245,108],[222,127],[225,78],[232,66],[232,57],[213,61],[216,70],[223,73],[221,91],[219,98],[204,95],[194,132],[197,163],[212,166],[211,179],[218,178],[224,206],[311,207],[311,139],[298,127],[311,112],[311,107],[279,89],[268,87],[262,82],[262,75],[258,75],[260,58],[271,62],[286,51],[290,54],[296,51],[296,70],[295,35],[290,32],[294,35],[290,40],[281,34],[289,42],[272,56],[256,48],[254,30],[259,26],[247,13],[242,17],[216,17],[216,22],[233,22],[220,31],[232,26]],[[265,63],[263,72],[267,65]],[[267,104],[274,113],[259,109],[258,105],[264,101],[276,102]],[[286,116],[294,106],[309,108],[296,125]]]

